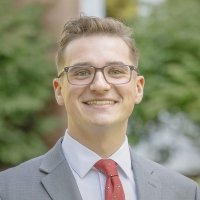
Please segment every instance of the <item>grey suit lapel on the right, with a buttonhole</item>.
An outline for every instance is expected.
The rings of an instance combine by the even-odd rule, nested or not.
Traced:
[[[131,151],[138,200],[160,200],[161,184],[153,167]]]

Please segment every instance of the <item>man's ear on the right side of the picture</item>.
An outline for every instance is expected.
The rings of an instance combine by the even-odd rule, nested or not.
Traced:
[[[143,76],[136,77],[136,99],[135,103],[139,104],[143,98],[145,79]]]

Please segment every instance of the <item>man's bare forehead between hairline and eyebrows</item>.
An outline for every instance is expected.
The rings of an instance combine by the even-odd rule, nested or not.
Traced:
[[[78,62],[101,65],[105,62],[120,61],[132,64],[128,45],[120,37],[109,35],[92,35],[75,39],[65,48],[63,58],[65,66]]]

